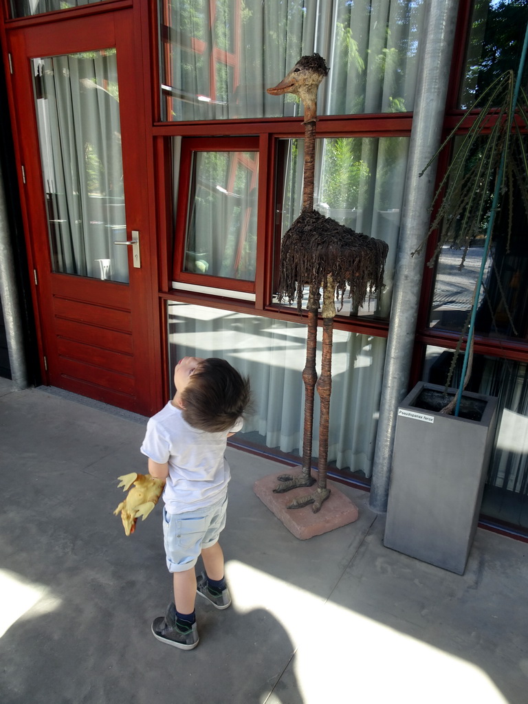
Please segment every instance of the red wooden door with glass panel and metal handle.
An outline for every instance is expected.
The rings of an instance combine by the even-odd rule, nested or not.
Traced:
[[[161,360],[137,32],[126,9],[8,43],[44,381],[148,415]]]

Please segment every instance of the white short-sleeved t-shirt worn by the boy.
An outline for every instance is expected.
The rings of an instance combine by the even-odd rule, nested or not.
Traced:
[[[149,419],[141,451],[154,462],[169,465],[163,491],[168,513],[187,513],[220,500],[230,480],[230,467],[224,456],[227,435],[242,425],[239,418],[230,430],[199,430],[189,425],[181,408],[172,406],[170,401]]]

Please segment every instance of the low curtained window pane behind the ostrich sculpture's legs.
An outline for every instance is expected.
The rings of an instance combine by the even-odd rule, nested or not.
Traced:
[[[237,437],[300,455],[306,325],[169,301],[168,337],[171,369],[184,356],[221,357],[249,376],[255,408]],[[385,339],[334,330],[329,460],[361,477],[372,472],[385,348]],[[318,427],[315,403],[315,456]]]

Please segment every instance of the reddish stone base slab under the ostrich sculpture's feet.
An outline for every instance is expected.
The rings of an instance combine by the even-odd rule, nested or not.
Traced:
[[[307,540],[315,535],[322,535],[341,526],[358,520],[358,509],[352,501],[337,489],[336,482],[327,482],[330,496],[322,504],[318,513],[313,513],[312,504],[303,508],[287,508],[298,496],[312,494],[317,484],[300,486],[284,494],[274,494],[273,489],[279,484],[278,473],[268,474],[253,484],[253,491],[272,513],[282,521],[290,533],[299,540]]]

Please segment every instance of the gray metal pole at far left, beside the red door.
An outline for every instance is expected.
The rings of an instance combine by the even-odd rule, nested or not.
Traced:
[[[0,296],[4,310],[7,348],[11,379],[15,389],[27,389],[27,367],[24,354],[24,333],[22,313],[15,278],[13,249],[9,239],[9,221],[7,216],[4,179],[0,165]]]

